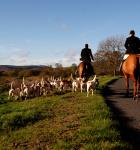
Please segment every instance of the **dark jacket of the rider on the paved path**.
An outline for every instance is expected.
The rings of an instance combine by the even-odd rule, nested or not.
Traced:
[[[124,46],[126,48],[126,54],[140,54],[140,39],[138,37],[128,37]]]

